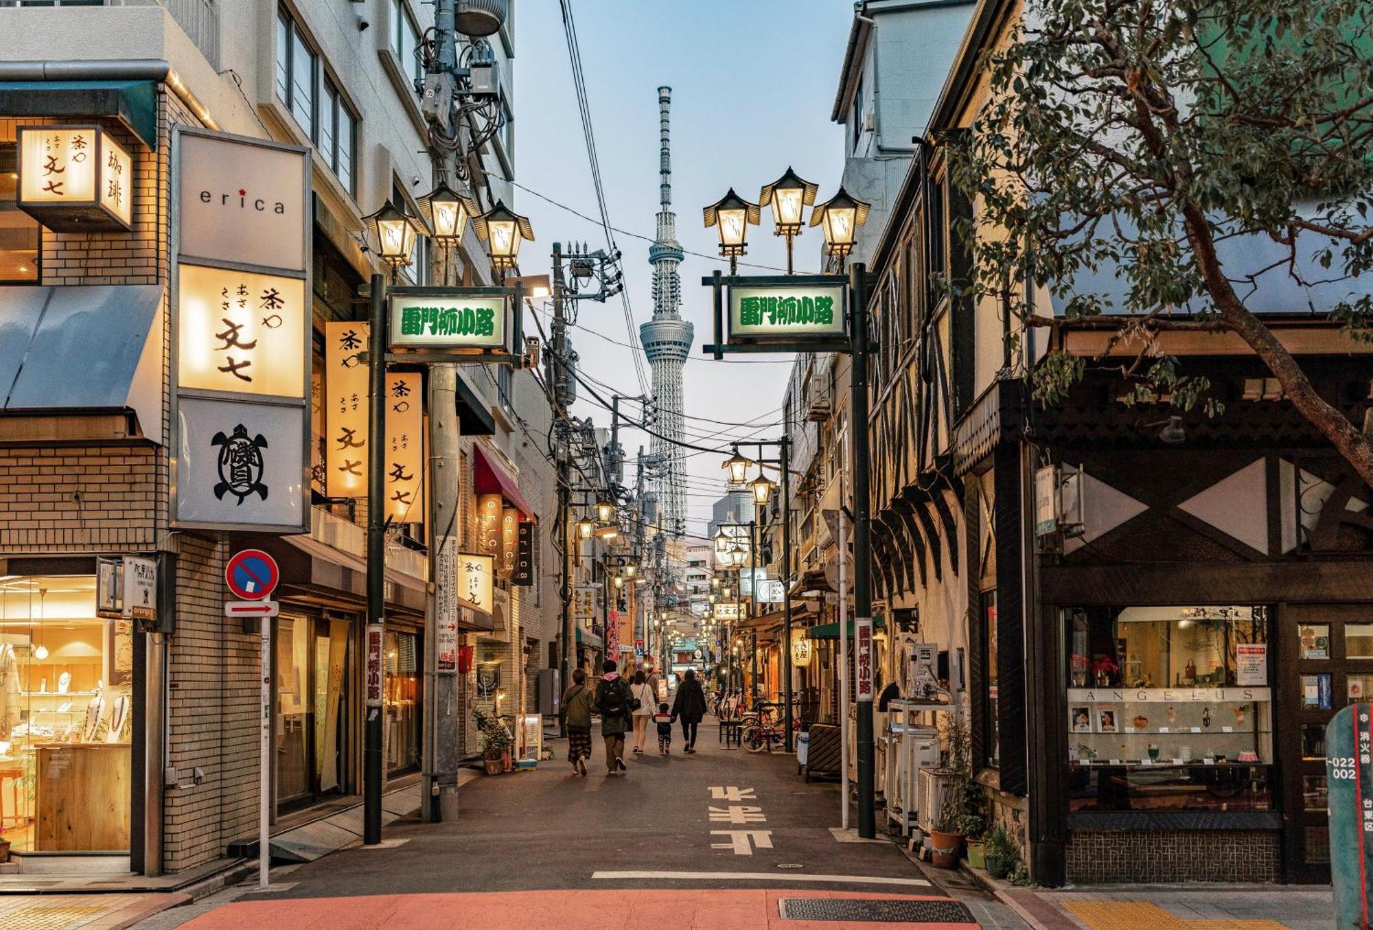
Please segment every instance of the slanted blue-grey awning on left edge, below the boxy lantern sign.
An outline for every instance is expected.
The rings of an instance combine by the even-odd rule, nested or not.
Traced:
[[[0,288],[0,412],[132,409],[143,435],[161,443],[162,289]]]

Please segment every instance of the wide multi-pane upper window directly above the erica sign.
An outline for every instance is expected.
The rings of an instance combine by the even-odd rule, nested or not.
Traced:
[[[357,115],[349,110],[301,27],[284,10],[276,18],[276,96],[314,145],[320,158],[353,193]]]

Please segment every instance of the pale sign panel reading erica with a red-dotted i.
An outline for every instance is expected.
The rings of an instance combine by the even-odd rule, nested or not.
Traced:
[[[222,133],[177,133],[178,247],[188,259],[309,270],[309,155]]]

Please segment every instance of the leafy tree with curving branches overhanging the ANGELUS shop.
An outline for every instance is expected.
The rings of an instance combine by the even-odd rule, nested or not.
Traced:
[[[973,203],[956,287],[1022,331],[1097,318],[1115,359],[1129,347],[1127,398],[1184,410],[1222,398],[1160,333],[1234,333],[1373,486],[1373,438],[1265,322],[1315,311],[1373,339],[1370,19],[1365,0],[1026,0],[953,144]],[[1035,398],[1107,354],[1048,354]]]

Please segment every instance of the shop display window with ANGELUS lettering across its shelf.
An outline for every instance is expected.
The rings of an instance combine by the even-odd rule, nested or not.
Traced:
[[[1064,623],[1072,809],[1270,809],[1266,608],[1081,608]]]

